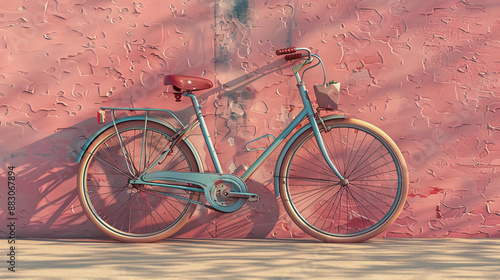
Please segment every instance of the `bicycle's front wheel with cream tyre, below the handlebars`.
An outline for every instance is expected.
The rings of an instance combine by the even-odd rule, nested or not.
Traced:
[[[404,158],[389,136],[357,119],[320,125],[341,182],[323,158],[312,129],[294,140],[280,171],[280,195],[291,219],[325,242],[362,242],[384,231],[408,193]]]

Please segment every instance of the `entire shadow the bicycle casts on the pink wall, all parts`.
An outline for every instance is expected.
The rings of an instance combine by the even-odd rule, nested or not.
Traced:
[[[243,91],[249,83],[279,72],[282,67],[288,67],[285,64],[286,62],[282,59],[276,60],[223,85],[202,92],[199,94],[199,98],[200,100],[209,100],[211,95],[217,93],[224,95]],[[280,72],[279,74],[281,75]],[[116,96],[119,98],[119,94]],[[112,103],[112,99],[109,101]],[[211,105],[207,102],[205,107],[209,106]],[[167,109],[170,109],[169,107],[172,107],[172,104],[165,106]],[[192,115],[190,107],[174,113],[180,116]],[[245,120],[242,121],[245,122]],[[19,167],[17,179],[19,186],[18,213],[24,227],[19,228],[23,237],[103,237],[82,212],[76,189],[76,175],[79,165],[75,162],[76,155],[83,143],[99,128],[100,126],[96,124],[94,118],[81,121],[68,128],[55,128],[56,133],[4,156],[6,163],[4,174],[6,174],[9,164],[15,164]],[[30,132],[23,133],[27,135]],[[75,139],[77,140],[75,141]],[[242,137],[235,142],[241,142],[244,146],[248,140]],[[236,153],[247,152],[238,150]],[[223,162],[223,158],[221,159]],[[272,159],[269,162],[274,165]],[[208,165],[205,169],[210,170],[211,168]],[[280,211],[281,206],[279,206],[278,199],[272,191],[272,178],[250,179],[247,183],[249,190],[260,195],[259,202],[247,203],[239,211],[231,214],[220,214],[198,207],[188,224],[174,236],[198,238],[290,237],[290,233],[287,232],[290,226],[285,224],[291,225],[292,222],[278,223],[287,218],[282,216],[286,214],[284,211]]]

